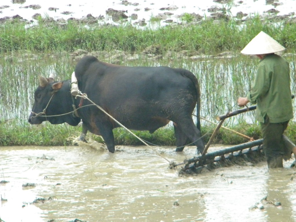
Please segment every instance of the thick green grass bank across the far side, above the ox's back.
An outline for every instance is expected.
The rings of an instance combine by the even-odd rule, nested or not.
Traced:
[[[273,36],[287,49],[295,49],[295,23],[280,22],[275,26],[270,19],[262,21],[257,16],[248,19],[243,25],[237,25],[234,19],[222,19],[219,22],[207,19],[191,24],[192,15],[186,13],[181,20],[189,23],[167,25],[155,30],[150,27],[139,29],[130,23],[119,26],[92,25],[91,29],[87,29],[74,21],[61,26],[57,22],[47,23],[40,19],[38,25],[32,28],[25,28],[25,24],[21,22],[7,22],[0,25],[0,52],[75,49],[140,52],[147,46],[158,44],[163,46],[163,50],[202,50],[205,54],[213,54],[240,51],[261,30]]]

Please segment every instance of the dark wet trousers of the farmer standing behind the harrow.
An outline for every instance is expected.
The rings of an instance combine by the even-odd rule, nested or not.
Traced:
[[[264,118],[264,123],[260,123],[268,168],[283,167],[283,156],[286,154],[283,133],[288,123],[289,120],[283,123],[270,123],[268,116]]]

